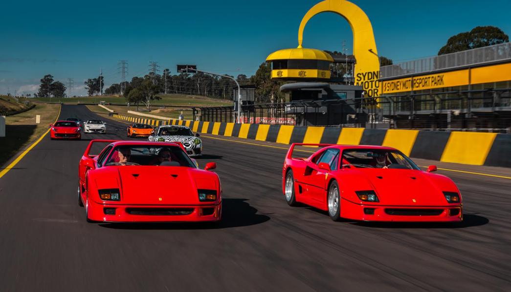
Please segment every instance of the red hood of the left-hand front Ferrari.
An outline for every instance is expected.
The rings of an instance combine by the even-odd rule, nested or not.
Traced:
[[[217,178],[204,172],[190,167],[110,166],[95,181],[98,189],[120,189],[122,204],[188,205],[200,203],[197,189],[218,189]]]

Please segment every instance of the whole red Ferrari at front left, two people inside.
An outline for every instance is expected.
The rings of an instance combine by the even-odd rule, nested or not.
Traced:
[[[97,142],[110,144],[90,155]],[[92,140],[79,164],[78,203],[89,222],[220,221],[214,168],[198,169],[176,143]]]

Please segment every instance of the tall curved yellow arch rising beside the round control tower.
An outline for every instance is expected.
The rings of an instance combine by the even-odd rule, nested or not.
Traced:
[[[380,95],[380,60],[373,26],[362,9],[345,0],[324,0],[312,7],[304,18],[301,19],[298,29],[298,48],[301,48],[304,40],[304,29],[307,22],[316,14],[322,12],[334,12],[344,17],[350,23],[353,32],[353,55],[355,64],[355,84],[361,85],[365,90],[366,97],[378,97]]]

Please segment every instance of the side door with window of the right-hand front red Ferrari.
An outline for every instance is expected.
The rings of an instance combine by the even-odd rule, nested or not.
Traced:
[[[321,157],[316,161],[314,173],[310,176],[310,184],[312,185],[312,199],[317,202],[324,202],[326,200],[326,188],[328,174],[337,170],[339,165],[339,149],[330,148],[323,152]],[[330,171],[320,169],[319,164],[326,163],[330,166]]]

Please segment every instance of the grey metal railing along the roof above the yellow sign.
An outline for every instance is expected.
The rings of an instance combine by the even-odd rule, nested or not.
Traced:
[[[453,69],[511,59],[511,43],[503,43],[441,56],[380,67],[380,78]]]

